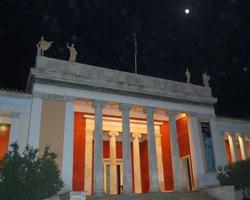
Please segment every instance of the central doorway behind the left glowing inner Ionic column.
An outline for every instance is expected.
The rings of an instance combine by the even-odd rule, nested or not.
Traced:
[[[122,169],[122,160],[117,159],[116,161],[116,178],[117,178],[117,194],[121,194],[123,192],[123,169]],[[112,183],[110,182],[110,161],[109,159],[104,160],[104,192],[106,194],[110,194],[110,186]]]

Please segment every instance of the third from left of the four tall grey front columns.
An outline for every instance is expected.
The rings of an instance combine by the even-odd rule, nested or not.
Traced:
[[[147,132],[148,132],[150,192],[159,192],[155,130],[154,130],[154,108],[146,107],[145,112],[147,118]]]

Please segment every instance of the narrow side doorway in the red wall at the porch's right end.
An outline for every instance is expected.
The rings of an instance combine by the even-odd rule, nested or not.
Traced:
[[[183,177],[183,186],[185,191],[191,191],[192,187],[192,169],[191,169],[191,161],[190,156],[181,158],[181,175]]]

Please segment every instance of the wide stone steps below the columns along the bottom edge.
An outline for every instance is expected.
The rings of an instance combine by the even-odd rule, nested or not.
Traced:
[[[87,200],[215,200],[204,191],[88,196]]]

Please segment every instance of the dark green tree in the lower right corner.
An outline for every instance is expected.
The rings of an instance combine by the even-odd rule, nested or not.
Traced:
[[[242,189],[243,199],[246,198],[245,189],[250,187],[250,159],[235,162],[219,168],[217,178],[221,185],[234,185],[236,189]]]

